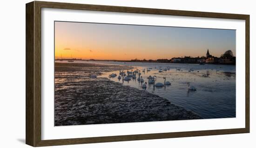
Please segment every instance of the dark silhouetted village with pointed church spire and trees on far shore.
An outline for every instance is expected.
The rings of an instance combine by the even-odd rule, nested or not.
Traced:
[[[161,63],[199,63],[199,64],[236,64],[236,57],[233,56],[233,52],[231,50],[227,50],[221,57],[213,56],[209,53],[209,49],[207,49],[206,56],[202,57],[191,57],[191,56],[184,56],[184,57],[175,57],[172,59],[157,59],[157,60],[131,60],[134,62],[138,61],[148,61],[148,62],[161,62]]]

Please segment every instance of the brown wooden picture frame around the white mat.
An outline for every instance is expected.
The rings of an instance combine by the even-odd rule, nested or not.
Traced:
[[[245,128],[41,140],[41,8],[245,20]],[[249,133],[249,15],[33,1],[26,4],[26,144],[40,146]]]

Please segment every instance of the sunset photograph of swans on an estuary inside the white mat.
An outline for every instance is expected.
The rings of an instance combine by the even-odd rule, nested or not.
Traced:
[[[54,21],[54,126],[236,118],[236,30]]]

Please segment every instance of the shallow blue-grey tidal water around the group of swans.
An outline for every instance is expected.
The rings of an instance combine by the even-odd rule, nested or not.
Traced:
[[[147,77],[149,75],[156,76],[155,83],[163,83],[163,77],[166,77],[166,81],[171,82],[170,86],[158,88],[153,87],[153,84],[148,84],[145,91],[166,98],[171,103],[191,110],[205,119],[236,117],[236,66],[234,65],[114,61],[75,62],[131,66],[134,67],[133,70],[141,70],[144,82],[148,82]],[[150,68],[150,71],[147,71],[147,68]],[[143,69],[145,69],[145,73],[142,72]],[[160,69],[163,72],[159,72]],[[118,80],[119,71],[105,72],[100,77],[108,78],[109,74],[112,73],[117,74],[117,76],[109,78],[110,80],[143,90],[141,82],[137,81],[138,74],[136,79],[131,81]],[[189,91],[187,82],[190,82],[196,91]]]

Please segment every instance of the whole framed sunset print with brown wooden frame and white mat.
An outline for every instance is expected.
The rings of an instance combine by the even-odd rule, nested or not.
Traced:
[[[249,15],[26,4],[26,143],[249,133]]]

